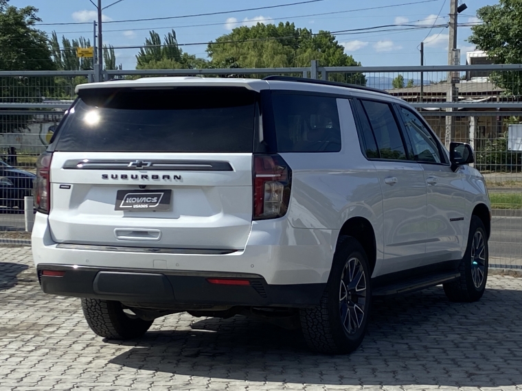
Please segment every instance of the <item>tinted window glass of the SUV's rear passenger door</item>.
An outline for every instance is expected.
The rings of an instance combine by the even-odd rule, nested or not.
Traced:
[[[374,130],[381,158],[405,160],[405,147],[389,104],[371,101],[362,102]]]

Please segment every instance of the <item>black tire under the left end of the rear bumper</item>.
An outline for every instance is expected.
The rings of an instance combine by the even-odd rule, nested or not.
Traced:
[[[128,315],[119,301],[82,298],[82,309],[91,330],[111,340],[141,337],[153,322]]]

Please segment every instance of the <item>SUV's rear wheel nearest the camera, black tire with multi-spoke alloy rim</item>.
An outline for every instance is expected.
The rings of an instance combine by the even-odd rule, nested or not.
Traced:
[[[351,273],[353,281],[350,268],[356,270]],[[349,274],[346,274],[347,270]],[[344,296],[341,281],[347,276],[352,283],[348,285],[348,289],[344,285]],[[369,263],[359,241],[353,237],[339,237],[321,304],[299,311],[303,335],[310,348],[320,353],[346,354],[359,347],[372,309],[370,277]],[[355,306],[362,308],[362,316],[361,310],[357,310]]]

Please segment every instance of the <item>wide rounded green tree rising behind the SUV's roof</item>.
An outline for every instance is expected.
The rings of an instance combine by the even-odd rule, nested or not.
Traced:
[[[319,67],[357,67],[330,32],[295,27],[294,23],[241,26],[209,43],[207,53],[214,67],[234,64],[240,68],[309,67],[317,60]],[[330,80],[365,84],[361,73],[333,74]]]

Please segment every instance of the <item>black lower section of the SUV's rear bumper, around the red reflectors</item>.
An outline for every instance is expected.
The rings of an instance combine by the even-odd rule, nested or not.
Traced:
[[[269,285],[257,274],[176,272],[39,264],[43,292],[60,296],[116,300],[159,309],[216,307],[310,307],[318,305],[325,283]],[[63,272],[46,276],[43,271]],[[56,273],[55,273],[56,274]],[[208,279],[241,279],[249,285],[217,285]]]

